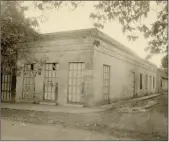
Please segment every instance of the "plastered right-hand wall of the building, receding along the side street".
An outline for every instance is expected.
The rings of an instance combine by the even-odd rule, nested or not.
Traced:
[[[156,68],[154,66],[142,64],[136,59],[134,61],[131,55],[105,42],[101,42],[100,46],[94,49],[94,101],[96,105],[104,103],[103,65],[110,66],[110,102],[156,92]],[[134,94],[132,73],[135,76]],[[142,74],[142,89],[140,89],[140,74]],[[148,76],[147,86],[145,85],[146,75]]]

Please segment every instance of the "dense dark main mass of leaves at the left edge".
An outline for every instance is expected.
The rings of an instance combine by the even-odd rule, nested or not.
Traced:
[[[32,26],[38,26],[36,19],[26,19],[20,1],[1,2],[1,55],[2,66],[10,62],[16,68],[17,44],[25,40],[31,41],[38,38],[38,33]]]

